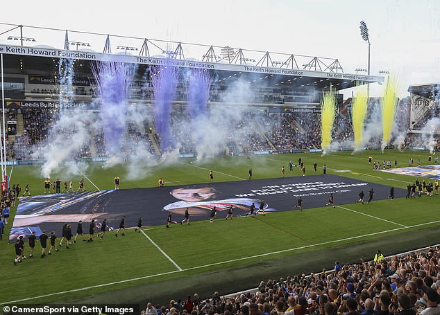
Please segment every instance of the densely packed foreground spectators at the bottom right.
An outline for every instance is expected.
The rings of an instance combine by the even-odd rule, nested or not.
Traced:
[[[257,291],[209,298],[198,294],[168,305],[147,303],[149,315],[437,315],[440,248],[339,264],[310,276],[260,282]]]

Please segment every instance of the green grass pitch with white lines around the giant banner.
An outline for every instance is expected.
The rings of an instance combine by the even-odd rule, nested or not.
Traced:
[[[412,157],[428,163],[428,152],[401,153],[388,150],[365,151],[350,155],[340,152],[321,154],[280,154],[219,157],[203,163],[179,160],[170,165],[152,167],[142,179],[126,179],[124,166],[109,169],[101,163],[90,163],[83,174],[68,175],[67,170],[51,178],[74,181],[78,188],[81,177],[87,177],[85,188],[112,189],[113,177],[121,177],[121,189],[157,186],[158,178],[165,184],[182,185],[208,181],[214,170],[215,181],[241,181],[253,168],[253,178],[280,177],[280,167],[286,176],[300,176],[299,168],[289,171],[288,163],[297,163],[301,156],[312,174],[312,165],[328,166],[328,174],[361,179],[387,186],[405,188],[414,177],[372,170],[368,156],[379,161],[394,159],[398,166],[407,166]],[[346,170],[346,172],[337,172]],[[8,168],[11,172],[11,168]],[[32,195],[44,191],[39,166],[15,166],[11,185],[20,183],[22,192],[28,183]],[[292,201],[292,209],[294,201]],[[11,222],[15,209],[12,210]],[[10,226],[6,227],[5,236]],[[67,251],[40,259],[26,259],[15,267],[12,244],[0,243],[0,264],[3,278],[0,303],[154,303],[169,298],[185,298],[187,294],[203,294],[219,290],[228,294],[238,289],[256,286],[260,280],[287,276],[298,272],[321,271],[335,260],[371,259],[376,247],[394,251],[411,250],[417,246],[437,244],[440,226],[439,196],[420,199],[405,198],[374,201],[370,205],[348,204],[337,208],[314,208],[303,212],[287,211],[265,217],[237,217],[232,221],[192,222],[189,226],[145,226],[142,233],[126,231],[126,237],[112,233],[90,244],[72,245]],[[35,246],[37,252],[40,246]],[[28,249],[25,249],[28,255]],[[313,260],[311,259],[313,258]],[[182,294],[176,296],[176,294]]]

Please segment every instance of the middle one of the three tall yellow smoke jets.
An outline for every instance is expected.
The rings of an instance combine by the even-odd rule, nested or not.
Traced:
[[[351,120],[353,121],[353,132],[355,134],[354,150],[360,150],[362,140],[364,138],[364,122],[368,111],[368,92],[366,87],[360,87],[356,97],[353,98],[353,106],[351,107]]]

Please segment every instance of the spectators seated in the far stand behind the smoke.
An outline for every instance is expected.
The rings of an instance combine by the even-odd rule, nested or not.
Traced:
[[[22,109],[24,132],[22,135],[15,136],[13,147],[9,146],[8,139],[6,147],[8,154],[15,159],[41,159],[42,152],[47,141],[51,141],[50,130],[55,125],[58,117],[58,109]],[[9,113],[11,119],[15,111]],[[210,112],[208,112],[208,116]],[[90,124],[98,121],[97,114],[91,115]],[[151,115],[150,113],[150,116]],[[222,136],[219,146],[215,153],[225,152],[226,154],[244,154],[244,152],[266,151],[266,150],[307,150],[321,147],[321,114],[319,112],[285,112],[274,114],[264,111],[245,111],[241,115],[226,116],[223,120],[213,122],[210,118],[207,126],[217,128],[218,135]],[[350,143],[353,141],[353,126],[349,118],[338,114],[335,118],[332,141],[339,143]],[[17,118],[15,118],[17,119]],[[367,117],[367,120],[369,117]],[[93,121],[92,121],[93,120]],[[154,126],[154,121],[144,121],[144,127],[128,124],[126,133],[123,136],[122,146],[128,155],[136,155],[140,152],[155,152],[152,140],[160,144],[160,135],[149,136],[152,131],[149,127]],[[152,125],[149,125],[152,124]],[[180,153],[192,153],[197,146],[197,139],[193,134],[192,121],[185,107],[174,108],[171,111],[170,132],[174,138],[174,144],[178,143]],[[71,136],[75,130],[62,130],[67,132],[66,138]],[[58,132],[58,134],[60,133]],[[105,150],[105,137],[102,129],[90,130],[91,138],[88,143],[75,152],[72,158],[90,158],[107,156]],[[391,144],[396,139],[391,138]],[[382,136],[373,136],[369,139],[366,148],[373,149],[380,147]],[[427,140],[421,135],[408,135],[405,138],[406,147],[413,145],[416,147],[426,146]],[[431,141],[432,147],[440,147],[440,137]],[[91,147],[94,147],[94,150]]]

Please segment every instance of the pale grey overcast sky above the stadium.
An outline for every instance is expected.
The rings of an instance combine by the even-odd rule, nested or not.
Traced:
[[[409,84],[440,82],[435,0],[4,1],[2,11],[8,12],[3,23],[337,57],[346,73],[366,69],[368,45],[359,34],[364,19],[372,75],[396,74],[400,96],[407,96]],[[50,42],[31,35],[39,44]],[[371,87],[373,96],[380,91]]]

